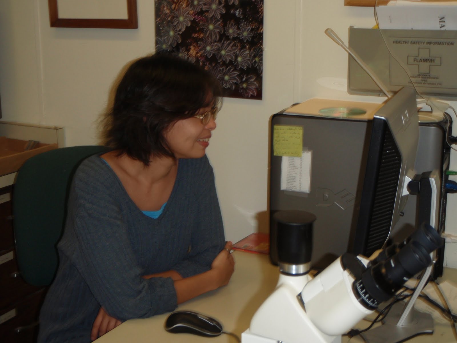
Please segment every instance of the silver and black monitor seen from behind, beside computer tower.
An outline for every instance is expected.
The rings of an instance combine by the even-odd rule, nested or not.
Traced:
[[[413,88],[402,88],[372,120],[368,160],[352,252],[370,256],[383,247],[402,215],[414,177],[419,120]],[[428,223],[427,223],[428,224]]]

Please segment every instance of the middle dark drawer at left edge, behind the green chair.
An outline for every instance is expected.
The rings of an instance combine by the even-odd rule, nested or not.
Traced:
[[[2,251],[0,258],[6,262],[0,264],[0,308],[9,306],[42,287],[27,284],[18,274],[14,250]]]

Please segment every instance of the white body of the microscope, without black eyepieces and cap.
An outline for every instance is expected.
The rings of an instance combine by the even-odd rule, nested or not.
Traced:
[[[354,280],[340,258],[315,278],[282,273],[243,332],[242,342],[341,342],[342,333],[372,313],[349,296]]]

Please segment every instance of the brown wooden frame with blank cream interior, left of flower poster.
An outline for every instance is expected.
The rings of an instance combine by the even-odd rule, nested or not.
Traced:
[[[137,0],[48,0],[51,27],[138,28]]]

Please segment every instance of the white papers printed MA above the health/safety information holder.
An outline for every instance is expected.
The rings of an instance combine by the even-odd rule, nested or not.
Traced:
[[[457,1],[389,1],[376,7],[381,29],[457,30]]]

